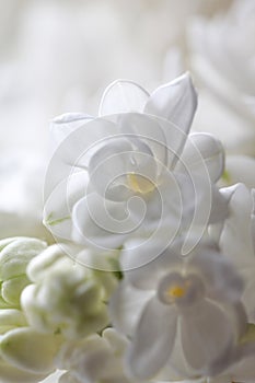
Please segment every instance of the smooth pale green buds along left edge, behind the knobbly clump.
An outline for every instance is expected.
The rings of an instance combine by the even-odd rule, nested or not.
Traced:
[[[0,381],[38,382],[55,370],[59,337],[45,337],[30,327],[21,309],[23,289],[31,283],[26,267],[47,247],[44,241],[13,237],[0,241]]]

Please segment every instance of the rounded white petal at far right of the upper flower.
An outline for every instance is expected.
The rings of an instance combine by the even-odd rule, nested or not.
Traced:
[[[205,173],[208,170],[211,182],[217,182],[224,169],[224,150],[219,140],[209,134],[188,136],[176,171]]]

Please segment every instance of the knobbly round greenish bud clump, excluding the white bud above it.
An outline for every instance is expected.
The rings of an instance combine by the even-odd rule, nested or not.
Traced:
[[[22,307],[31,326],[39,332],[61,332],[80,338],[103,329],[107,310],[102,287],[81,266],[54,270],[22,292]]]

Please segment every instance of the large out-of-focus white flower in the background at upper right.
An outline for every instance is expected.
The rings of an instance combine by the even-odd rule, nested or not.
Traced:
[[[255,153],[254,25],[254,1],[235,0],[225,14],[198,16],[188,30],[190,66],[205,88],[196,126],[216,132],[235,154]]]

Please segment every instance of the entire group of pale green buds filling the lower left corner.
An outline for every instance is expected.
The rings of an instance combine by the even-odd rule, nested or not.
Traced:
[[[0,382],[38,382],[55,371],[68,339],[108,324],[112,272],[90,270],[61,245],[14,237],[0,241]]]

